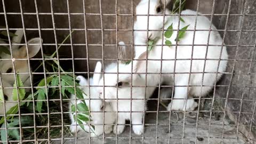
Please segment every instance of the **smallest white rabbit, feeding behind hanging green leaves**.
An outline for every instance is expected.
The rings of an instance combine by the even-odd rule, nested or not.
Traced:
[[[100,73],[101,72],[101,63],[98,62],[94,73]],[[98,85],[99,83],[99,79],[100,79],[100,74],[94,74],[92,78],[89,79],[90,81],[90,85]],[[90,128],[88,125],[85,125],[85,131],[89,132],[90,131],[90,136],[91,137],[97,137],[99,135],[101,135],[103,133],[103,124],[107,124],[104,127],[105,133],[110,133],[111,131],[113,131],[113,125],[110,124],[114,124],[115,122],[115,114],[111,113],[111,112],[106,112],[106,111],[113,111],[111,109],[111,106],[105,105],[105,121],[103,121],[103,103],[101,100],[92,100],[92,99],[99,99],[99,94],[97,93],[97,88],[96,87],[91,87],[89,88],[89,82],[87,79],[85,79],[83,76],[77,76],[77,80],[79,80],[79,85],[82,86],[87,86],[87,87],[82,87],[82,90],[84,91],[85,94],[84,95],[84,99],[89,99],[89,89],[90,89],[90,110],[91,111],[97,111],[96,113],[91,112],[91,117],[92,120],[90,124],[98,124],[95,125],[95,129],[93,130],[92,127]],[[71,105],[75,104],[75,95],[71,94],[70,99],[73,99],[69,102],[69,111],[71,111]],[[77,100],[77,104],[81,103],[81,100]],[[89,107],[89,100],[85,100],[86,105]],[[69,114],[70,119],[71,119],[71,125],[70,125],[70,131],[71,132],[75,132],[76,131],[76,122],[75,119],[73,117],[73,115],[75,114]],[[84,123],[86,124],[86,123]],[[82,128],[80,126],[77,126],[77,131],[83,131]]]

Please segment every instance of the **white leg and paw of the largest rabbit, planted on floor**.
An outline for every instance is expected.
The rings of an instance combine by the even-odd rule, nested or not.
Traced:
[[[174,98],[169,103],[167,110],[194,110],[197,102],[194,99],[188,99],[188,76],[177,76],[178,82],[175,82]],[[185,105],[186,104],[186,105]]]

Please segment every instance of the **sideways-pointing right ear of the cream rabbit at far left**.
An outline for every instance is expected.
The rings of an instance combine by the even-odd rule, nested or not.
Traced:
[[[39,52],[42,42],[43,42],[43,40],[40,39],[39,37],[32,38],[28,41],[28,56],[29,56],[29,58],[33,58]],[[33,45],[30,45],[30,44],[33,44]],[[21,57],[27,57],[26,45],[22,46],[19,49],[19,55]]]

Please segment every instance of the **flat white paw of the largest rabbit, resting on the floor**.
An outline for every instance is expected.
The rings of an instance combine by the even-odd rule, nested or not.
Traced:
[[[172,106],[169,103],[167,110],[194,110],[197,107],[197,102],[193,99],[187,100],[187,106],[185,107],[185,100],[173,100]]]

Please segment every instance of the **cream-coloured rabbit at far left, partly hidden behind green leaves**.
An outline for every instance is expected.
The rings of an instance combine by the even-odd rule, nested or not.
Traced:
[[[20,43],[21,39],[23,37],[23,30],[17,30],[15,32],[16,35],[13,37],[12,41]],[[38,45],[28,45],[28,56],[27,56],[27,49],[26,45],[21,46],[19,48],[19,45],[12,45],[12,54],[14,59],[27,59],[27,57],[32,58],[34,57],[40,50],[42,40],[40,41],[40,38],[33,38],[30,39],[27,43],[28,44],[38,44]],[[5,42],[1,41],[0,43],[5,44]],[[10,47],[7,46],[10,50]],[[11,59],[11,55],[1,53],[2,59]],[[14,66],[16,73],[29,73],[29,66],[27,60],[14,60]],[[0,72],[1,72],[1,78],[3,81],[3,87],[13,87],[13,84],[15,83],[14,75],[7,75],[3,73],[13,73],[13,63],[12,60],[1,60],[0,61]],[[23,85],[25,87],[28,87],[31,85],[29,74],[20,74],[21,81],[23,82]],[[26,91],[29,91],[30,89],[26,89]],[[12,99],[12,89],[4,89],[4,95],[7,96],[8,101],[13,101]],[[0,102],[2,104],[2,102]],[[1,105],[0,104],[0,105]],[[6,112],[12,107],[15,106],[17,102],[6,102]],[[3,111],[0,111],[0,114],[4,114]]]

